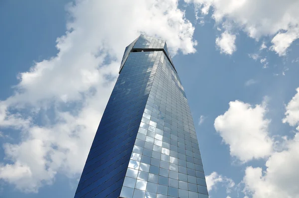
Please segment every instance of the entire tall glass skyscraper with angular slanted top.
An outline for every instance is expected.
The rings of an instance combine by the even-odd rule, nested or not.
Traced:
[[[126,47],[119,73],[75,198],[208,198],[166,42],[140,35]]]

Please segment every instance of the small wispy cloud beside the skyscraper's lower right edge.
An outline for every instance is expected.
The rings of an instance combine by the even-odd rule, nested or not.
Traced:
[[[211,173],[210,175],[205,177],[208,192],[215,190],[218,184],[226,187],[226,192],[230,193],[231,189],[235,186],[235,183],[232,179],[223,177],[216,172]]]

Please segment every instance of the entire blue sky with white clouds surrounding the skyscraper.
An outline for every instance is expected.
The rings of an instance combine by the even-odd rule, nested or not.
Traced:
[[[0,197],[74,196],[125,47],[144,33],[167,41],[210,198],[299,198],[298,6],[1,1]]]

